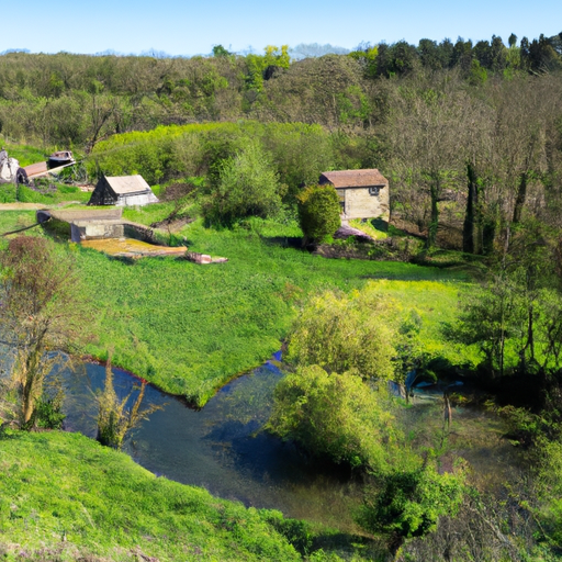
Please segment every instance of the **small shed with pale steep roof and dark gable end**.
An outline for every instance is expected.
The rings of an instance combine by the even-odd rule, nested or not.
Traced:
[[[89,205],[117,206],[147,205],[148,203],[158,203],[158,199],[144,178],[138,175],[113,178],[103,176],[88,202]]]

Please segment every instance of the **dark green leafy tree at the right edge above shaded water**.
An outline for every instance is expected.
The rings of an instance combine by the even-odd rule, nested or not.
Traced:
[[[475,345],[493,375],[562,366],[561,241],[537,222],[507,229],[504,255],[480,289],[460,300],[452,337]]]

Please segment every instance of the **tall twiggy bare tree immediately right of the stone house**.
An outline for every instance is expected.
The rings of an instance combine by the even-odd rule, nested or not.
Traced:
[[[429,205],[427,246],[435,245],[439,203],[447,191],[464,186],[468,145],[477,112],[451,76],[397,82],[393,87],[384,134],[391,167],[404,200]]]

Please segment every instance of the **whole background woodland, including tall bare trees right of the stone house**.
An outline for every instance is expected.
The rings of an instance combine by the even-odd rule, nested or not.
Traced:
[[[459,38],[422,40],[417,47],[363,45],[349,55],[299,61],[291,61],[285,46],[237,56],[218,45],[213,53],[3,55],[0,134],[88,155],[115,133],[159,125],[240,120],[316,125],[308,142],[295,131],[299,148],[270,132],[261,139],[291,193],[323,169],[376,167],[392,179],[393,211],[427,231],[429,244],[440,223],[454,223],[462,212],[463,247],[476,252],[493,246],[499,224],[519,223],[524,215],[558,225],[560,36],[518,42],[512,35],[507,46],[496,36],[476,44]],[[215,134],[199,148],[204,156],[184,154],[189,170],[158,162],[148,181],[201,176],[217,158],[234,154],[232,136],[226,130]],[[318,136],[324,137],[319,148]],[[176,153],[186,153],[187,144]],[[191,150],[198,153],[194,144]],[[288,166],[291,150],[314,151],[306,158],[308,169]]]

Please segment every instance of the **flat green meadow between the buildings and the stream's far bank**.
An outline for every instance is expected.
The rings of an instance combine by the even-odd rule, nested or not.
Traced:
[[[284,247],[280,228],[272,236],[271,225],[254,226],[222,232],[198,223],[188,226],[182,234],[191,250],[229,260],[213,266],[170,258],[122,261],[74,246],[98,323],[99,340],[86,351],[104,357],[113,347],[115,364],[201,405],[231,378],[277,351],[300,302],[315,291],[350,291],[376,279],[409,281],[412,286],[435,281],[416,292],[419,306],[427,307],[428,329],[446,311],[450,319],[458,273],[408,263],[327,260]],[[392,283],[381,288],[394,291]],[[407,288],[402,290],[397,297],[414,304]]]

